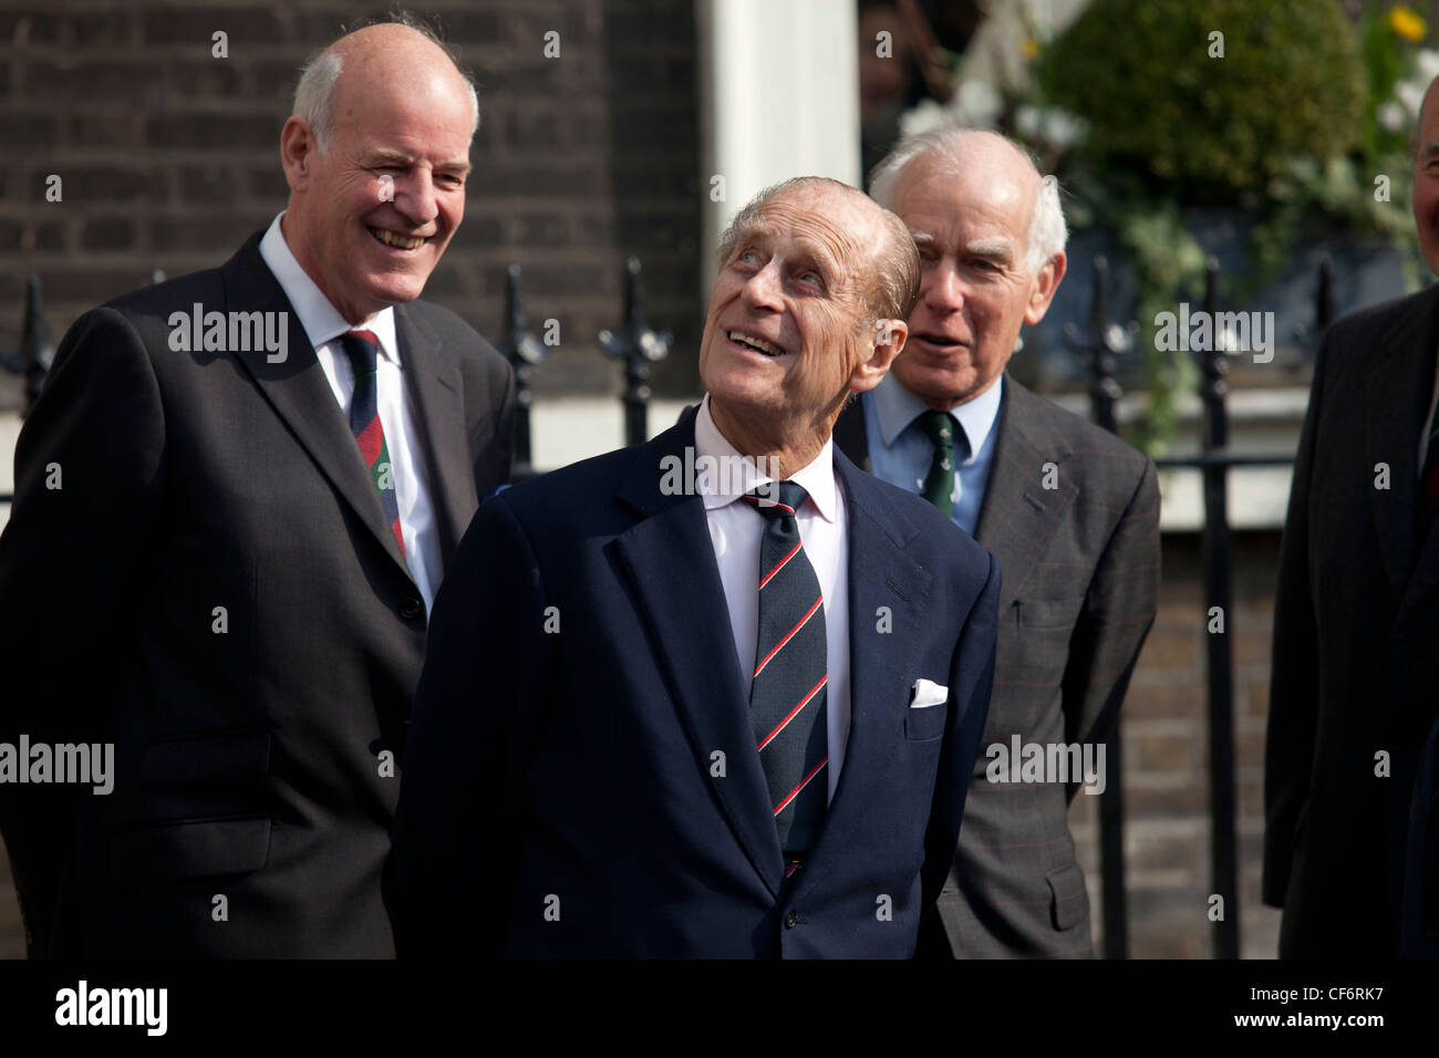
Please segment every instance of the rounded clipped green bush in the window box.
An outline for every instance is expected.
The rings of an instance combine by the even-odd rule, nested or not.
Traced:
[[[1209,55],[1213,32],[1223,58]],[[1348,154],[1368,96],[1354,32],[1328,0],[1095,0],[1039,81],[1089,122],[1097,166],[1134,167],[1200,204],[1243,204],[1294,155]]]

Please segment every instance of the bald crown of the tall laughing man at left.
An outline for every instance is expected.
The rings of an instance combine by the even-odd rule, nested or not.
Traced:
[[[471,137],[479,128],[479,96],[455,56],[422,24],[399,22],[357,29],[314,56],[301,71],[294,117],[309,124],[325,153],[337,121],[374,85],[394,85],[416,99],[460,91],[473,114]]]

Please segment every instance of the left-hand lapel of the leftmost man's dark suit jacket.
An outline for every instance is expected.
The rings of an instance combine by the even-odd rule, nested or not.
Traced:
[[[250,236],[250,240],[222,269],[226,308],[246,312],[256,309],[285,312],[289,318],[286,357],[272,364],[265,350],[235,351],[232,356],[255,379],[275,413],[285,420],[301,448],[315,461],[335,491],[355,510],[366,528],[409,576],[404,556],[400,554],[400,546],[384,517],[380,492],[360,459],[350,423],[335,402],[335,393],[330,389],[299,317],[295,315],[283,289],[260,258],[259,240],[259,235]]]

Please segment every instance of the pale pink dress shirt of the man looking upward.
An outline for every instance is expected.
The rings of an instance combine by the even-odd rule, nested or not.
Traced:
[[[730,607],[730,629],[734,632],[735,664],[748,702],[754,684],[755,639],[760,635],[760,537],[764,515],[740,502],[740,497],[758,488],[768,475],[758,474],[754,461],[741,456],[724,439],[709,415],[705,396],[695,419],[695,465],[711,456],[717,468],[728,472],[695,474],[696,491],[704,497],[709,541],[720,564],[725,603]],[[849,518],[845,512],[845,489],[835,478],[833,440],[814,462],[789,476],[809,492],[799,510],[800,541],[804,556],[819,577],[825,597],[825,638],[829,682],[825,688],[825,715],[829,725],[829,797],[835,796],[839,772],[845,766],[849,743]]]

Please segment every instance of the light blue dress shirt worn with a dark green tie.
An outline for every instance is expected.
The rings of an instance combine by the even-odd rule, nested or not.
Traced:
[[[968,442],[970,455],[960,461],[954,475],[954,504],[950,520],[974,535],[984,502],[989,469],[994,462],[994,422],[999,419],[1004,376],[980,393],[950,410]],[[865,443],[869,449],[869,472],[881,481],[920,495],[924,478],[934,461],[934,445],[914,425],[915,416],[930,409],[920,397],[899,384],[894,374],[859,399],[865,407]],[[958,455],[958,446],[955,448]]]

